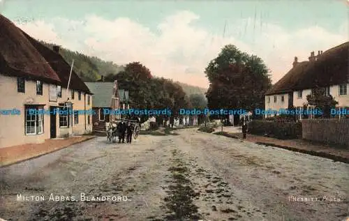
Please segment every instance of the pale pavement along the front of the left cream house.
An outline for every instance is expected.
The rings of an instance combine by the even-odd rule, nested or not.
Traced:
[[[66,148],[70,145],[84,142],[94,137],[95,136],[81,135],[66,139],[46,139],[43,144],[24,144],[0,148],[0,167],[36,158],[47,153],[52,153],[61,148]]]

